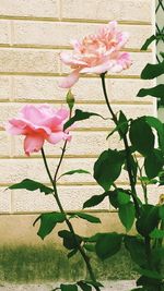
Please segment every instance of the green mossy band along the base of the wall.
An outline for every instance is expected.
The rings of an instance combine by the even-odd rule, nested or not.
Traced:
[[[133,279],[134,265],[121,250],[105,262],[92,257],[96,276],[101,280]],[[86,277],[85,266],[79,255],[68,259],[63,250],[47,246],[4,246],[0,248],[0,282],[74,281]]]

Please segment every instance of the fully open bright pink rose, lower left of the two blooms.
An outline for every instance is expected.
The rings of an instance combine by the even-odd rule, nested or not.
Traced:
[[[47,141],[57,144],[61,140],[70,140],[69,133],[63,132],[63,123],[69,117],[69,110],[54,109],[48,105],[26,105],[17,118],[9,120],[7,131],[12,135],[25,135],[24,151],[39,151]]]

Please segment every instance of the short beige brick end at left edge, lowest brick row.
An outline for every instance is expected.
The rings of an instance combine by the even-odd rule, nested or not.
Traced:
[[[0,187],[0,214],[11,211],[11,191]]]

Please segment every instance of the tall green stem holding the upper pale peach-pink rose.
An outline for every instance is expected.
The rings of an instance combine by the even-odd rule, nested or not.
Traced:
[[[101,74],[103,93],[104,93],[104,97],[105,97],[105,101],[106,101],[107,108],[108,108],[108,110],[109,110],[109,112],[112,114],[113,121],[116,124],[116,126],[118,126],[117,117],[116,117],[115,112],[113,111],[113,108],[112,108],[112,106],[109,104],[109,100],[108,100],[108,96],[107,96],[107,92],[106,92],[106,85],[105,85],[105,74],[106,73]],[[119,132],[121,133],[121,130],[119,130]],[[126,162],[127,162],[127,170],[128,170],[128,175],[129,175],[129,181],[130,181],[130,186],[131,186],[131,195],[132,195],[132,198],[133,198],[137,216],[139,217],[140,216],[140,207],[139,207],[137,192],[136,192],[136,182],[134,182],[134,178],[133,178],[133,173],[132,173],[132,169],[131,169],[131,161],[130,161],[131,153],[130,153],[130,148],[129,148],[129,145],[128,145],[127,136],[124,133],[121,133],[121,136],[122,136],[122,141],[124,141],[124,144],[125,144]]]

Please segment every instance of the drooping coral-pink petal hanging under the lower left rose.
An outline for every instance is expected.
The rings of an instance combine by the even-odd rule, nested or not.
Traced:
[[[24,151],[27,156],[30,156],[31,153],[39,151],[43,145],[44,138],[42,135],[26,135],[24,140]]]

